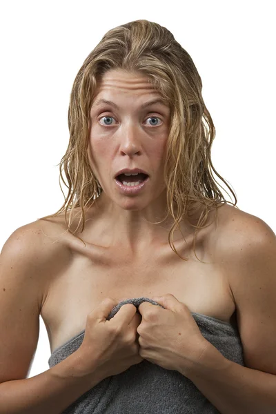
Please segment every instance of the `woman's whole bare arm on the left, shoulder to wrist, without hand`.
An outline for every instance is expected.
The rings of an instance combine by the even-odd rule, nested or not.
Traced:
[[[60,255],[57,244],[46,243],[33,224],[26,225],[1,251],[0,414],[58,414],[103,380],[96,369],[82,373],[79,350],[28,378],[39,338],[43,278]]]

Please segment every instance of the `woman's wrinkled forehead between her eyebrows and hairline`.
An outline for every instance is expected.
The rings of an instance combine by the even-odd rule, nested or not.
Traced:
[[[101,76],[97,83],[93,106],[97,105],[101,97],[106,99],[111,97],[112,92],[113,97],[118,96],[118,93],[134,98],[141,97],[141,99],[143,97],[155,97],[159,98],[163,104],[168,106],[168,103],[161,96],[160,92],[152,86],[149,78],[139,72],[127,72],[122,69],[108,70],[108,72]]]

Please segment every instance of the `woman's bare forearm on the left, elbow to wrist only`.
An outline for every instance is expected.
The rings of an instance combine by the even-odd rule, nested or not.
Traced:
[[[0,384],[0,414],[61,414],[103,378],[83,376],[77,351],[39,375]]]

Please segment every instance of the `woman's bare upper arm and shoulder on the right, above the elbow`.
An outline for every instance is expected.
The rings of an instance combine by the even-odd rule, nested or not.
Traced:
[[[275,233],[260,217],[230,212],[218,250],[235,299],[244,362],[276,375]]]

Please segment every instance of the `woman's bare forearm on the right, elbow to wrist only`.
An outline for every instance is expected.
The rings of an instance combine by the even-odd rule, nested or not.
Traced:
[[[221,414],[276,413],[276,375],[236,364],[213,345],[187,376]]]

